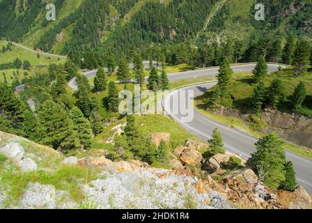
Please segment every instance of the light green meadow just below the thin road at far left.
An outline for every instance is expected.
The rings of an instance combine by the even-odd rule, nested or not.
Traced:
[[[6,41],[1,41],[0,43],[2,45],[7,45]],[[20,59],[21,61],[29,61],[31,66],[47,66],[51,63],[64,63],[65,61],[65,59],[62,58],[59,60],[56,56],[40,55],[40,58],[38,58],[36,52],[29,52],[28,50],[22,49],[15,45],[12,45],[12,49],[10,51],[0,53],[0,63],[10,63],[13,62],[16,58]]]

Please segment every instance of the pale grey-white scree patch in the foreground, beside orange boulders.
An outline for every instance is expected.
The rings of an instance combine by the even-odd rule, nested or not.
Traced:
[[[104,170],[105,177],[84,187],[86,196],[98,208],[231,208],[226,198],[214,190],[198,192],[192,176],[153,168],[134,167],[124,172],[115,164],[110,168],[115,171]]]

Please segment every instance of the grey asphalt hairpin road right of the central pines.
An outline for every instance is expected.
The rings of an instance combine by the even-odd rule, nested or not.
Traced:
[[[232,66],[234,72],[251,72],[255,67],[254,64],[242,65],[242,66]],[[274,72],[278,70],[278,65],[270,64],[268,65],[268,72]],[[194,70],[190,72],[180,72],[176,74],[169,75],[169,80],[178,80],[183,78],[194,78],[206,75],[217,75],[219,68],[211,68],[205,70]],[[182,114],[175,114],[173,112],[173,98],[176,98],[180,94],[180,91],[194,91],[194,97],[203,95],[207,89],[215,86],[217,82],[194,84],[191,86],[185,86],[180,89],[175,89],[167,93],[164,97],[164,110],[171,118],[177,121],[183,128],[185,128],[189,133],[194,134],[203,141],[211,139],[212,132],[215,128],[218,128],[224,138],[224,146],[227,151],[231,151],[241,157],[247,159],[251,156],[251,153],[256,151],[254,144],[258,139],[251,137],[245,132],[241,132],[235,128],[230,128],[226,125],[222,125],[215,121],[210,120],[208,117],[204,116],[200,112],[194,111],[194,119],[192,122],[182,122]],[[185,96],[187,97],[187,96]],[[184,101],[187,101],[185,98]],[[194,106],[194,105],[191,105]],[[286,151],[286,158],[293,162],[297,181],[300,185],[304,186],[306,190],[310,193],[312,192],[312,160],[306,159],[300,155],[292,153],[291,151]]]

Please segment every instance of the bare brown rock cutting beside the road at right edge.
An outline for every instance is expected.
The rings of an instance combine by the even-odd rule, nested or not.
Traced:
[[[261,116],[270,125],[265,128],[265,132],[273,130],[278,132],[283,139],[312,148],[312,118],[278,110],[267,110]]]

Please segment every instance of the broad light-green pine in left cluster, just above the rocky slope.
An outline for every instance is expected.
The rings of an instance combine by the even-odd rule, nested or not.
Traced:
[[[45,145],[56,149],[71,149],[79,146],[75,125],[61,105],[47,100],[40,105],[38,118],[44,128],[42,141]]]

